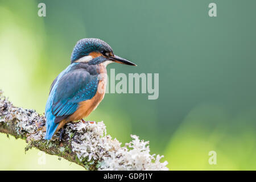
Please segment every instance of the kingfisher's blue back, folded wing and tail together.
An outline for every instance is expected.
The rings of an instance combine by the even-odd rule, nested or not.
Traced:
[[[95,96],[97,86],[97,75],[90,75],[85,69],[75,69],[57,78],[46,106],[46,139],[51,139],[60,121],[75,113],[80,102]]]

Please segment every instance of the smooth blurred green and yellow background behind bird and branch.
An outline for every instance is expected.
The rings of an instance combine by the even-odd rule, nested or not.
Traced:
[[[76,42],[100,38],[138,64],[108,70],[159,73],[159,98],[106,94],[87,119],[103,120],[123,144],[130,134],[150,140],[170,170],[256,169],[255,1],[0,2],[0,89],[14,105],[44,113]],[[217,17],[208,15],[211,2]],[[0,143],[1,170],[83,170],[50,155],[40,165],[24,140],[0,134]]]

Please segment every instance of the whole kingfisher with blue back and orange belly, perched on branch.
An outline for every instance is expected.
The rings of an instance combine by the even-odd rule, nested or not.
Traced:
[[[114,55],[103,40],[81,39],[76,43],[68,65],[52,82],[46,103],[46,137],[72,121],[83,120],[96,109],[106,90],[106,66],[110,63],[136,64]]]

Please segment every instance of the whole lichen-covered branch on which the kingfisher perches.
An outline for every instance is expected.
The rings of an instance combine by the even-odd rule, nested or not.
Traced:
[[[88,170],[168,170],[163,156],[150,155],[148,142],[131,135],[133,140],[121,147],[117,139],[106,134],[103,122],[68,123],[59,140],[44,140],[46,119],[32,109],[15,107],[0,90],[0,132],[22,138],[32,147],[60,156]]]

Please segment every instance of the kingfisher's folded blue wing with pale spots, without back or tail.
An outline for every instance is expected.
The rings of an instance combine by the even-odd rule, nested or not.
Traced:
[[[69,72],[60,78],[52,104],[52,114],[68,116],[77,110],[79,102],[90,100],[97,92],[97,76],[91,76],[84,69]]]

